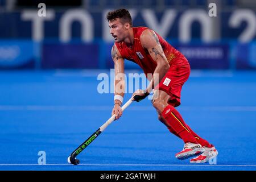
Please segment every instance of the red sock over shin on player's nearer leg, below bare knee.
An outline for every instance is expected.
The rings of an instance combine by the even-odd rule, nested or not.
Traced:
[[[174,106],[168,105],[164,108],[162,116],[167,121],[167,125],[169,125],[185,143],[197,143],[196,138],[190,133],[186,123]]]

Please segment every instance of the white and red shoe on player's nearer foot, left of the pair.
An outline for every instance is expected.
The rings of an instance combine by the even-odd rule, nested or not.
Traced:
[[[197,143],[185,143],[182,151],[177,153],[175,157],[177,159],[188,159],[192,156],[199,155],[204,152],[204,148]]]

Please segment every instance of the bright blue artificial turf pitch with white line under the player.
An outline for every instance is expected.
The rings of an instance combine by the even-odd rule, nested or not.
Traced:
[[[256,72],[192,71],[177,110],[216,146],[217,164],[177,160],[183,141],[134,102],[78,156],[69,154],[109,117],[99,71],[0,72],[0,170],[256,170]],[[131,94],[126,94],[125,101]],[[38,152],[46,164],[38,165]]]

